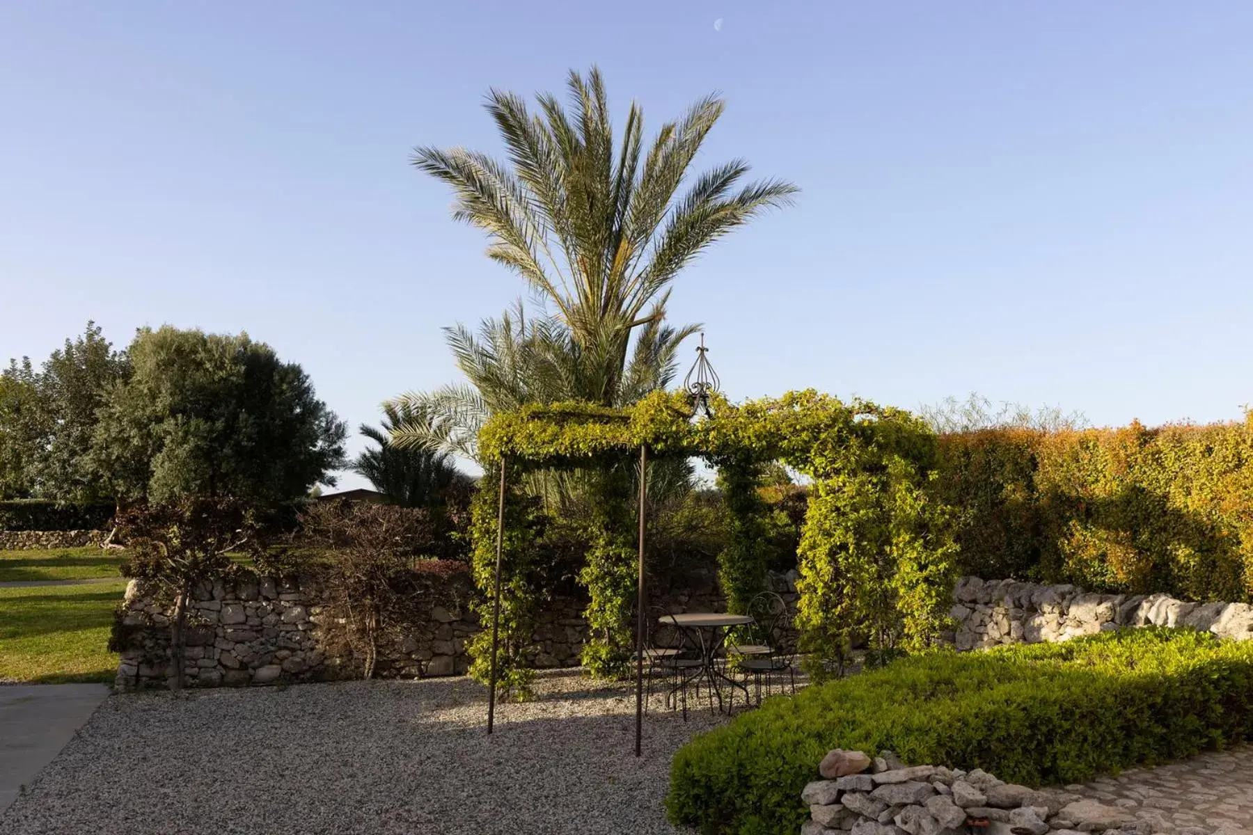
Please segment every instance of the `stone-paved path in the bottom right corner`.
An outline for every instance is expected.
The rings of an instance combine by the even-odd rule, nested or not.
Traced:
[[[1123,806],[1155,835],[1253,832],[1253,745],[1134,769],[1066,790]]]

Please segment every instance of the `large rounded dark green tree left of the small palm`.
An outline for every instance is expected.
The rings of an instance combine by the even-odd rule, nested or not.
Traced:
[[[142,329],[134,374],[112,389],[91,443],[122,501],[298,499],[343,464],[345,423],[308,376],[247,334]]]

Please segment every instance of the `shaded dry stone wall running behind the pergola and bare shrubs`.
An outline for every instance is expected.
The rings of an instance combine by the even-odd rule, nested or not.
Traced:
[[[771,575],[771,587],[796,603],[796,572]],[[470,611],[475,590],[469,573],[432,576],[420,616],[378,640],[375,675],[427,677],[461,675],[466,642],[481,627]],[[659,583],[658,606],[670,612],[720,611],[724,598],[713,572]],[[530,661],[536,667],[579,663],[588,625],[585,601],[558,597],[540,612]],[[308,578],[202,583],[188,606],[183,660],[187,686],[264,685],[357,675],[360,658],[340,640],[320,590]],[[123,689],[163,686],[169,677],[169,601],[154,586],[132,581],[119,612]]]

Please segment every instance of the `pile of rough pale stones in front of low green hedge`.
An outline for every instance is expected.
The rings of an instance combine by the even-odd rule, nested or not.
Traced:
[[[891,751],[870,757],[836,749],[804,787],[802,835],[1079,835],[1144,832],[1125,809],[1053,789],[1007,784],[975,769],[906,766]]]

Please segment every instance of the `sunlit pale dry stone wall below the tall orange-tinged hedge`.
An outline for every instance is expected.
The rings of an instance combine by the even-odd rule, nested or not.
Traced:
[[[1066,641],[1140,626],[1190,626],[1219,637],[1253,637],[1249,603],[1190,603],[1169,595],[1098,595],[1076,586],[964,577],[954,590],[951,636],[959,650]]]

